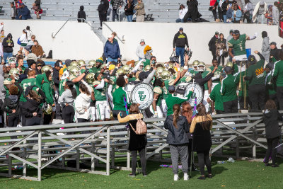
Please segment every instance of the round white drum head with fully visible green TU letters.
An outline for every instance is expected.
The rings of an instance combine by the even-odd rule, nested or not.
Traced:
[[[137,84],[132,89],[132,103],[139,103],[139,109],[144,110],[149,108],[154,101],[154,90],[149,84]]]

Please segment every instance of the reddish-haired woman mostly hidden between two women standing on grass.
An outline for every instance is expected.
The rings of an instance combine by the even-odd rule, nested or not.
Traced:
[[[187,118],[187,122],[189,122],[189,125],[192,122],[192,106],[190,105],[190,103],[185,102],[182,104],[182,115],[185,116],[185,118]],[[189,138],[189,145],[188,145],[188,151],[189,151],[189,159],[188,159],[188,165],[189,165],[189,169],[192,162],[192,134],[187,133],[187,137]],[[195,165],[192,164],[192,171],[195,171]]]

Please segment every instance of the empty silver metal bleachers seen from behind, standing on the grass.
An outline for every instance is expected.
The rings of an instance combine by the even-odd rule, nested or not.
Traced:
[[[211,154],[227,145],[230,148],[231,144],[236,144],[236,156],[240,154],[243,144],[246,144],[245,150],[247,147],[252,148],[253,157],[256,156],[256,147],[267,148],[265,144],[262,144],[262,142],[265,142],[262,139],[265,138],[262,113],[212,115],[212,118],[214,126],[211,133],[214,147]],[[166,118],[144,119],[148,124],[146,159],[162,162],[165,161],[162,159],[162,153],[164,151],[169,153],[168,144],[166,143],[167,131],[163,129],[165,120]],[[64,127],[63,130],[60,129],[62,127]],[[64,135],[57,135],[62,132],[64,132]],[[2,162],[0,166],[8,167],[8,173],[0,173],[0,176],[41,181],[41,171],[47,167],[106,176],[110,175],[110,168],[130,170],[130,155],[129,151],[125,149],[127,147],[126,141],[129,139],[129,132],[125,130],[125,124],[118,121],[79,122],[64,125],[38,125],[0,129],[0,137],[16,136],[23,136],[23,138],[0,138],[0,144],[2,144],[2,146],[0,145],[0,162]],[[4,143],[6,145],[3,145]],[[242,145],[239,145],[240,143]],[[17,147],[21,148],[21,150],[15,151],[14,149]],[[48,154],[49,151],[57,151],[57,153]],[[115,152],[119,152],[119,154],[115,154]],[[121,152],[127,153],[123,155]],[[88,157],[81,157],[80,153],[86,154]],[[156,155],[158,155],[157,159]],[[122,156],[127,157],[127,166],[115,166],[115,157]],[[12,158],[20,162],[12,161]],[[44,158],[48,159],[44,160]],[[61,163],[59,165],[55,164],[59,159]],[[76,161],[76,168],[66,167],[65,162],[72,159]],[[83,159],[90,160],[91,169],[80,168],[80,161]],[[103,162],[103,164],[98,164],[98,161]],[[23,176],[12,174],[13,165],[23,165]],[[37,168],[37,178],[27,176],[27,165]],[[96,166],[105,167],[105,172],[95,171]]]

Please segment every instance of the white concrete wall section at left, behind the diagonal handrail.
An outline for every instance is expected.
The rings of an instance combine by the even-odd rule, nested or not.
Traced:
[[[86,23],[69,21],[53,39],[52,33],[56,33],[65,21],[1,20],[0,22],[4,22],[5,35],[8,33],[13,35],[14,54],[20,48],[17,41],[27,25],[30,26],[30,30],[33,31],[45,53],[53,51],[53,59],[97,59],[103,53],[103,43]]]

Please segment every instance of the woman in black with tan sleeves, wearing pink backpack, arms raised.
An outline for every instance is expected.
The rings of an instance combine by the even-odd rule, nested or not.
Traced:
[[[137,119],[142,119],[144,116],[139,113],[139,105],[137,103],[132,103],[129,107],[129,115],[125,118],[121,118],[121,114],[118,114],[119,122],[129,122],[134,130],[137,128]],[[132,173],[129,176],[136,176],[137,168],[137,151],[139,151],[139,159],[141,159],[141,170],[143,176],[146,176],[146,134],[136,134],[132,127],[129,127],[129,151],[132,155]]]

